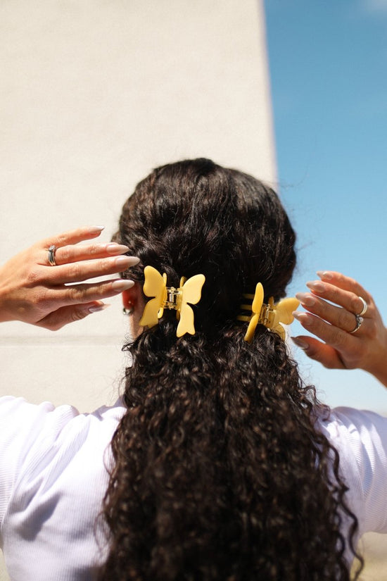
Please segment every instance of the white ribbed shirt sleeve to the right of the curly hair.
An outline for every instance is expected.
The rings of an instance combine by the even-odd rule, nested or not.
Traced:
[[[321,426],[340,456],[360,535],[387,533],[387,418],[371,411],[336,408]]]

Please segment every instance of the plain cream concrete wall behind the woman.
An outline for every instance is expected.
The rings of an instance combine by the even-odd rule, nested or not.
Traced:
[[[161,163],[208,156],[274,180],[261,1],[4,1],[0,46],[0,263],[78,225],[108,240]],[[110,302],[53,334],[1,325],[0,394],[115,401],[125,318]]]

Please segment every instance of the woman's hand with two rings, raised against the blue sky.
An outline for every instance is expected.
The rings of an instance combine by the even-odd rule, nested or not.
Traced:
[[[307,313],[295,317],[323,342],[306,335],[294,342],[326,368],[364,369],[387,387],[387,329],[371,294],[341,273],[317,274],[321,280],[307,282],[310,292],[296,294]],[[367,311],[354,332],[364,306],[360,297]]]

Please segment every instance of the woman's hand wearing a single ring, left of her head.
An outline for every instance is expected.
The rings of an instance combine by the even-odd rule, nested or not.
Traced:
[[[134,285],[132,280],[85,280],[120,273],[139,263],[122,244],[77,244],[94,239],[102,227],[82,227],[42,240],[0,268],[0,322],[20,320],[49,330],[104,308],[108,296]],[[55,265],[49,263],[49,247]],[[79,284],[80,283],[80,284]]]

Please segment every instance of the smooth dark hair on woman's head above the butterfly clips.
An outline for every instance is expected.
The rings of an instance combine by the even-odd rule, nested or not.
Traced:
[[[164,165],[142,180],[122,208],[115,239],[139,256],[131,272],[139,282],[146,265],[167,273],[168,286],[205,275],[195,307],[204,331],[235,320],[241,295],[257,282],[266,299],[284,296],[296,262],[295,234],[272,189],[208,159]]]

